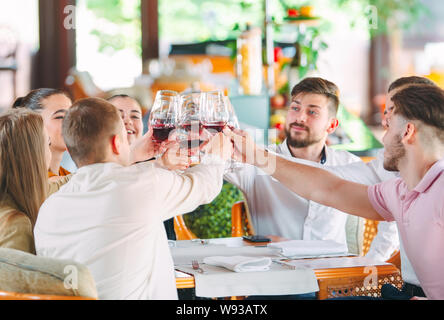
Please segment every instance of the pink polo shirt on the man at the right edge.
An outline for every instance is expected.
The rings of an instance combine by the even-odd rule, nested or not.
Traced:
[[[402,179],[368,189],[370,202],[387,221],[396,221],[404,250],[430,299],[444,299],[444,160],[408,190]]]

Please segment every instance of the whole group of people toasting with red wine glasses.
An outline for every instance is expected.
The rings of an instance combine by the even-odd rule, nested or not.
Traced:
[[[225,179],[261,234],[345,242],[348,214],[387,221],[369,255],[400,246],[403,290],[444,299],[443,90],[421,77],[393,82],[385,149],[370,163],[327,146],[338,105],[335,84],[302,80],[287,139],[262,147],[221,93],[159,93],[143,134],[131,97],[72,104],[34,90],[0,116],[0,247],[84,264],[100,299],[177,299],[163,222],[210,203]],[[75,173],[60,166],[65,151]]]

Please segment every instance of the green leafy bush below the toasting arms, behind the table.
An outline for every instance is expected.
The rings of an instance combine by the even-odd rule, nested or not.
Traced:
[[[187,227],[201,239],[231,237],[231,207],[243,200],[242,192],[225,182],[212,203],[184,215]]]

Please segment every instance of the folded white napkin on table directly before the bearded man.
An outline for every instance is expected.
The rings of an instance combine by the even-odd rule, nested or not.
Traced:
[[[330,240],[290,240],[268,244],[268,247],[281,249],[286,257],[341,256],[348,254],[345,243]]]

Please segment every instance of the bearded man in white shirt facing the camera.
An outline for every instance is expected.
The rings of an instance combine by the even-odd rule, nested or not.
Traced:
[[[287,139],[269,149],[289,160],[305,159],[320,166],[364,165],[357,156],[326,146],[328,135],[338,127],[338,91],[334,83],[321,78],[306,78],[297,84],[286,118]],[[245,194],[257,234],[347,243],[348,214],[300,197],[251,165],[224,177]],[[398,248],[396,224],[389,225],[380,228],[374,240],[373,258],[386,260]]]

